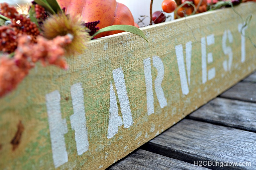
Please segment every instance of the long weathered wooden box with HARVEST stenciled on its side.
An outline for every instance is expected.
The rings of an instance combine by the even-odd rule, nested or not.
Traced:
[[[256,40],[256,3],[235,8]],[[0,99],[0,169],[104,169],[255,70],[232,8],[92,40]]]

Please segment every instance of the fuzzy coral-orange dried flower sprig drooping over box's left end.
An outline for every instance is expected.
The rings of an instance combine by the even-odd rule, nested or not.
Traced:
[[[0,97],[14,90],[37,61],[41,61],[43,66],[56,65],[68,69],[63,47],[71,42],[71,35],[57,36],[53,40],[38,36],[37,43],[33,43],[28,35],[18,38],[14,57],[4,55],[0,58]]]

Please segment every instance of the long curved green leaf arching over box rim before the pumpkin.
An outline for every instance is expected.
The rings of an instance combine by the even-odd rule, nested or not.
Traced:
[[[131,32],[133,34],[141,36],[142,38],[144,38],[144,40],[146,40],[146,42],[148,42],[144,33],[139,28],[137,28],[136,26],[132,26],[132,25],[112,25],[112,26],[108,26],[108,27],[105,27],[105,28],[102,28],[102,29],[98,30],[96,33],[94,33],[92,35],[92,37],[95,37],[96,35],[98,35],[102,32],[115,31],[115,30]]]

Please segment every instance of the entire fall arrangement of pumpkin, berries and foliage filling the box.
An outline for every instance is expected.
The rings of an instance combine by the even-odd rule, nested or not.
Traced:
[[[175,11],[175,18],[180,18],[233,7],[241,0],[164,0],[164,12],[154,13],[152,3],[153,0],[150,24],[158,24],[166,20],[164,13]],[[15,89],[38,61],[43,66],[55,65],[67,70],[64,56],[83,53],[91,39],[128,31],[146,40],[137,27],[131,11],[116,0],[34,0],[26,14],[1,3],[0,97]]]

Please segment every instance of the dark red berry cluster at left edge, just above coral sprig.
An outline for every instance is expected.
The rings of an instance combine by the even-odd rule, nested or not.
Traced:
[[[0,27],[0,51],[12,53],[17,47],[17,33],[8,26]]]

